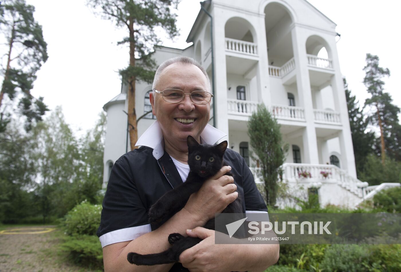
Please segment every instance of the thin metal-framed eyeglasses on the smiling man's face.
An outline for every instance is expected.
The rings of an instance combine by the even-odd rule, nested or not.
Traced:
[[[189,95],[191,101],[198,105],[205,105],[209,103],[213,95],[206,91],[193,91],[192,93],[184,93],[178,89],[165,89],[164,91],[153,90],[163,96],[164,101],[168,103],[179,103],[184,100],[185,95]]]

